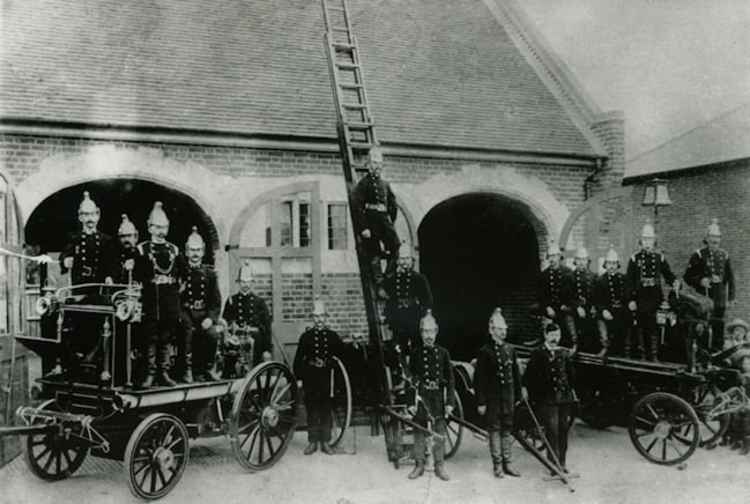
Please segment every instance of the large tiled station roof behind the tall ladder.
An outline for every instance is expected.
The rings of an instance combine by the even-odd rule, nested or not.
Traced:
[[[381,140],[595,153],[482,0],[350,0]],[[4,2],[0,117],[335,137],[314,0]]]

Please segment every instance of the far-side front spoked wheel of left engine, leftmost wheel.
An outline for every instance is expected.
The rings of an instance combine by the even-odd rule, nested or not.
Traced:
[[[46,401],[39,410],[60,411],[54,399]],[[32,424],[44,424],[40,417],[32,419]],[[43,480],[60,481],[81,467],[89,453],[88,445],[70,435],[66,428],[55,427],[42,434],[29,434],[24,444],[26,466]]]

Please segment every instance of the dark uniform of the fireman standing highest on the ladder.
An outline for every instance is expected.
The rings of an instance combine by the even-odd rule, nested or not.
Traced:
[[[368,255],[381,256],[380,244],[391,258],[398,252],[399,239],[393,223],[398,207],[390,184],[368,173],[357,183],[352,193],[354,210],[359,213],[363,229],[369,229],[371,236],[365,241]]]

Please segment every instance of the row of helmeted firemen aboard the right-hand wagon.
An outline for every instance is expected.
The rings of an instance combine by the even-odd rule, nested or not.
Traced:
[[[604,272],[590,270],[588,253],[576,251],[571,270],[563,264],[560,248],[551,243],[547,250],[549,266],[542,271],[536,310],[563,328],[564,343],[572,348],[583,344],[599,355],[610,350],[632,358],[659,359],[660,325],[670,321],[657,316],[669,307],[663,285],[693,292],[712,301],[703,326],[698,325],[706,351],[722,348],[724,314],[734,300],[735,285],[729,255],[720,248],[721,230],[717,220],[708,226],[704,246],[690,257],[683,275],[686,286],[669,267],[663,252],[656,248],[656,234],[650,223],[643,226],[639,249],[629,259],[625,273],[620,271],[617,252],[610,249],[604,259]],[[694,336],[693,328],[688,331]],[[710,335],[710,337],[708,337]]]

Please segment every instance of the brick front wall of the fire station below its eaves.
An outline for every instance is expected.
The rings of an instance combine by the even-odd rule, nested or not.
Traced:
[[[602,132],[616,130],[613,125],[616,125],[617,121],[605,121],[605,123],[602,123]],[[613,140],[613,145],[619,145],[617,141],[619,140]],[[142,146],[156,148],[168,158],[180,162],[197,163],[214,173],[236,178],[292,177],[310,174],[339,175],[341,173],[340,159],[337,154],[9,134],[0,135],[0,168],[12,176],[14,183],[19,184],[37,171],[42,160],[51,155],[81,154],[92,146],[102,144],[114,145],[122,149],[137,149]],[[434,175],[459,173],[467,164],[478,164],[482,169],[489,170],[512,167],[523,175],[537,177],[546,182],[555,197],[570,210],[583,203],[584,179],[590,172],[590,168],[582,166],[489,161],[477,163],[457,159],[390,156],[386,159],[384,176],[396,184],[419,184]],[[539,250],[543,253],[546,247],[546,230],[539,225],[539,222],[532,222],[532,225],[537,229]],[[580,229],[577,229],[574,233],[574,240],[577,241],[580,235]],[[307,318],[312,299],[311,281],[309,278],[289,277],[285,279],[285,282],[288,282],[285,283],[285,296],[289,304],[282,310],[283,319],[293,321]],[[261,283],[263,285],[258,286],[258,293],[268,300],[270,309],[270,278],[262,280]],[[367,332],[361,288],[356,273],[325,274],[322,295],[330,300],[331,324],[335,329],[342,333]],[[523,298],[527,297],[528,294],[524,294]],[[508,307],[511,318],[517,318],[512,323],[516,323],[518,327],[525,327],[527,324],[523,320],[521,306],[526,304],[525,301],[511,304],[513,306]]]

